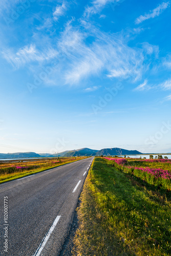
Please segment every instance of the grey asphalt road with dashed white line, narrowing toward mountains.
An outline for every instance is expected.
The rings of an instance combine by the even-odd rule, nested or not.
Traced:
[[[1,255],[59,255],[92,161],[83,159],[0,185]]]

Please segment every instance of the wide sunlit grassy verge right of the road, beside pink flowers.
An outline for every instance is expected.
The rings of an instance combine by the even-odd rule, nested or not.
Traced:
[[[95,158],[77,209],[73,255],[171,255],[170,201]]]

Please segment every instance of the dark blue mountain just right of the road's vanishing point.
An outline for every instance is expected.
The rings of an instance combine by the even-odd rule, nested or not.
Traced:
[[[142,153],[137,150],[124,150],[123,148],[103,148],[96,153],[96,156],[120,156],[120,155],[141,155]]]

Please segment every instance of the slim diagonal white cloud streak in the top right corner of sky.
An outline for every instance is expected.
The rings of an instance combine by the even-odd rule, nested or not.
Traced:
[[[163,2],[161,5],[159,5],[157,8],[155,8],[153,11],[150,11],[148,14],[144,14],[139,16],[136,20],[136,24],[140,24],[144,22],[144,20],[149,18],[155,18],[156,16],[159,16],[167,7],[169,7],[170,2]]]

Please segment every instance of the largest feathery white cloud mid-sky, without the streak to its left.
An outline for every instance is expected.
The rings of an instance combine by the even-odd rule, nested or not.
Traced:
[[[90,35],[94,36],[94,42],[88,46],[85,41]],[[110,78],[137,80],[141,77],[142,50],[128,47],[118,34],[102,33],[93,27],[83,33],[69,25],[59,46],[69,59],[65,61],[66,71],[62,73],[65,83],[78,83],[88,76],[98,76],[100,72]]]

